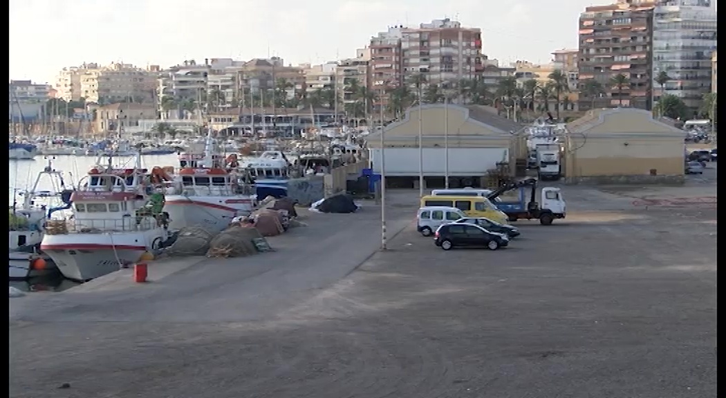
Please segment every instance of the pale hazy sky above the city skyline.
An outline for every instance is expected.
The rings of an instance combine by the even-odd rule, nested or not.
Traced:
[[[389,26],[449,17],[482,30],[500,62],[549,62],[577,47],[584,7],[608,0],[9,0],[10,78],[52,83],[83,62],[178,65],[184,59],[286,64],[355,57]]]

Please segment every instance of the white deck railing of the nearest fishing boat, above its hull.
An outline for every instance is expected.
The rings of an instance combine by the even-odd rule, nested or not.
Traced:
[[[160,226],[160,221],[154,217],[124,216],[118,219],[88,219],[82,220],[49,220],[45,233],[48,235],[65,235],[68,233],[111,233],[150,231]]]

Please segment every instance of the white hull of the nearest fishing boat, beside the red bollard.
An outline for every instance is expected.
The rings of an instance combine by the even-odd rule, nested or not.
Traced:
[[[44,236],[41,250],[65,278],[90,281],[132,265],[144,252],[159,249],[168,239],[163,228],[112,233],[67,233]]]

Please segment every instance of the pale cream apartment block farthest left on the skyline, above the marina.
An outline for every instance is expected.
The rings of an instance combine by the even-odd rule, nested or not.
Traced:
[[[134,65],[118,62],[101,66],[96,63],[63,68],[56,81],[60,98],[78,101],[81,98],[97,104],[118,101],[152,102],[155,76]]]

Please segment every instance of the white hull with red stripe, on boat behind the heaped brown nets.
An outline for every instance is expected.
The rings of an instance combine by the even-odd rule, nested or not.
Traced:
[[[169,215],[169,228],[200,226],[211,232],[227,228],[234,217],[249,215],[254,200],[249,196],[182,196],[168,195],[164,211]]]

